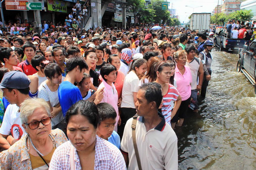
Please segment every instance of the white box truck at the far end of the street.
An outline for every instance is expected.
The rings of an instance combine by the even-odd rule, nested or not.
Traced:
[[[211,13],[193,13],[190,18],[190,29],[204,31],[206,29],[210,30],[210,18]]]

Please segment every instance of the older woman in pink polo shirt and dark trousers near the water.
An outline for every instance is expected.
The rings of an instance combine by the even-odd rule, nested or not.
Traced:
[[[172,122],[177,122],[178,126],[182,126],[191,100],[192,76],[189,67],[185,66],[187,61],[185,50],[177,51],[174,54],[174,58],[177,63],[174,78],[177,83],[177,90],[181,96],[181,105],[179,111],[177,111],[176,115],[173,117]]]

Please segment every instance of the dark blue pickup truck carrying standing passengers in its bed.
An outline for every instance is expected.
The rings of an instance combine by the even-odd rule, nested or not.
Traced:
[[[214,41],[215,45],[220,48],[220,51],[223,51],[223,49],[229,51],[238,50],[239,48],[243,48],[246,43],[249,43],[249,41],[244,39],[227,38],[227,30],[225,29],[221,30],[218,35],[214,37]]]

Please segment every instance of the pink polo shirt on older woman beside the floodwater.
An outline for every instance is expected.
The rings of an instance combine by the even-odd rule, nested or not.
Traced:
[[[192,76],[190,72],[190,68],[185,67],[185,73],[182,75],[179,72],[179,69],[176,65],[174,78],[177,82],[177,90],[179,91],[179,95],[181,96],[181,100],[187,100],[191,96],[191,82]]]

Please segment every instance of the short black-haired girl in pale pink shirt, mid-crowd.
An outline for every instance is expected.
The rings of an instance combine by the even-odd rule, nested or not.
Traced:
[[[117,123],[119,121],[119,112],[118,112],[118,94],[117,90],[113,84],[117,80],[117,68],[111,64],[106,64],[102,66],[100,70],[100,74],[103,78],[102,83],[98,87],[98,89],[101,89],[104,87],[104,93],[103,98],[101,102],[106,102],[108,104],[111,104],[112,107],[114,107],[114,110],[117,112],[117,118],[115,123],[114,130],[117,131]]]

